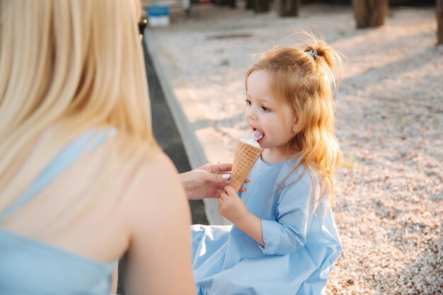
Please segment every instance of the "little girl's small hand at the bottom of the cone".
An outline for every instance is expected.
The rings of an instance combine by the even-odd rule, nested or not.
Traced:
[[[237,224],[248,214],[248,209],[234,188],[228,185],[224,187],[224,190],[219,197],[219,212],[226,219]]]

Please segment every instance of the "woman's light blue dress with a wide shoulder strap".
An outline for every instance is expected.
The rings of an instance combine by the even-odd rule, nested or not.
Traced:
[[[95,149],[107,133],[87,132],[60,151],[25,193],[0,212],[0,221],[38,195],[82,153]],[[92,260],[0,227],[0,294],[109,295],[114,267],[115,262]]]

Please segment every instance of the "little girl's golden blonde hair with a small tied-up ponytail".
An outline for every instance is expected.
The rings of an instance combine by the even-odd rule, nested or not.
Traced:
[[[341,67],[342,59],[326,42],[311,33],[304,35],[306,42],[296,47],[276,47],[261,54],[258,63],[246,72],[245,83],[253,71],[267,71],[272,95],[282,105],[289,105],[297,118],[297,134],[287,143],[287,153],[299,160],[293,172],[304,165],[320,176],[320,199],[328,197],[333,204],[333,175],[340,158],[333,69]]]

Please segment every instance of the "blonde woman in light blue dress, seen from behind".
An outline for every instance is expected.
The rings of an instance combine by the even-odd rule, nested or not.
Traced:
[[[195,294],[188,197],[151,132],[136,0],[0,0],[0,293]],[[112,25],[110,25],[112,23]]]

